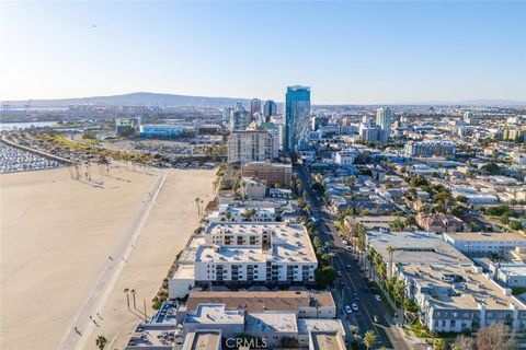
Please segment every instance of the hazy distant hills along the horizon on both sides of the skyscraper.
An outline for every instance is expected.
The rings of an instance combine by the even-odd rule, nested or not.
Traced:
[[[206,97],[186,96],[174,94],[158,94],[150,92],[137,92],[113,96],[93,96],[82,98],[59,98],[59,100],[32,100],[32,108],[60,108],[69,105],[81,104],[107,104],[107,105],[157,105],[159,107],[226,107],[236,103],[250,104],[250,98],[235,97]],[[10,108],[22,108],[28,103],[25,101],[2,101],[1,104],[9,104]],[[341,104],[344,105],[344,104]],[[358,105],[358,104],[353,104]],[[369,104],[373,105],[373,104]],[[472,101],[428,101],[407,103],[385,103],[374,105],[469,105],[469,106],[526,106],[526,101],[512,100],[472,100]]]

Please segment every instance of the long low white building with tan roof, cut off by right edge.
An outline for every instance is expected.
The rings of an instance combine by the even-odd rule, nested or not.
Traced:
[[[513,232],[445,232],[443,237],[458,250],[473,256],[504,256],[516,247],[526,247],[526,240]]]

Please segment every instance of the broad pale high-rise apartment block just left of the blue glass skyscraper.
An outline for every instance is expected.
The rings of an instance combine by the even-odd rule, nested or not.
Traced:
[[[275,139],[268,131],[243,130],[232,131],[228,137],[228,162],[247,163],[270,161],[277,158]]]

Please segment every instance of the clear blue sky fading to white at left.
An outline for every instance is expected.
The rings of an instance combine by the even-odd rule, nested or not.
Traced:
[[[2,2],[0,100],[526,100],[526,2]]]

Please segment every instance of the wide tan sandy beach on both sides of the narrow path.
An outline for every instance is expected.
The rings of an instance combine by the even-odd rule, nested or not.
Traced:
[[[127,310],[125,288],[137,291],[137,308],[142,311],[146,300],[151,316],[151,299],[197,226],[194,199],[210,199],[214,178],[215,171],[167,171],[118,278],[96,310],[96,327],[85,327],[76,345],[92,349],[94,338],[104,335],[107,349],[123,348],[140,322],[137,311]],[[71,180],[67,168],[0,176],[0,348],[59,345],[158,180],[157,171],[122,165],[90,183]]]

